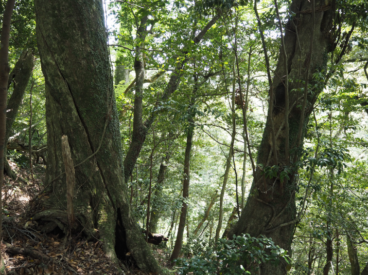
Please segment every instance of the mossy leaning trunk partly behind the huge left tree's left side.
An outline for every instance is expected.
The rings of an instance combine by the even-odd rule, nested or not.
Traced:
[[[16,114],[18,113],[19,107],[22,104],[24,92],[27,88],[29,78],[32,75],[32,70],[34,66],[34,56],[30,50],[24,49],[19,60],[15,63],[13,70],[10,72],[8,77],[8,89],[13,83],[13,92],[8,101],[6,113],[6,132],[5,132],[5,143],[11,135],[11,128],[15,121]],[[11,170],[10,165],[6,159],[7,149],[4,148],[4,171],[13,180],[16,179],[15,173]]]

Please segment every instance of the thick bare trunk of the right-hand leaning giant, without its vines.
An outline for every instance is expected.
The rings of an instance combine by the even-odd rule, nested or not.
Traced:
[[[312,2],[313,3],[313,2]],[[330,51],[330,22],[334,11],[331,8],[322,9],[325,1],[316,1],[315,24],[312,35],[312,11],[311,3],[308,0],[294,0],[291,3],[291,12],[296,15],[286,25],[285,31],[285,50],[287,55],[287,70],[284,70],[284,55],[279,54],[277,68],[273,79],[274,99],[272,116],[267,117],[266,128],[259,146],[257,164],[264,166],[287,165],[289,160],[293,160],[293,155],[286,158],[286,137],[289,138],[290,148],[297,147],[297,135],[299,132],[301,109],[297,107],[298,98],[302,92],[293,91],[301,88],[298,82],[289,83],[289,102],[290,112],[288,115],[289,134],[285,130],[285,75],[288,73],[289,79],[297,78],[306,80],[306,67],[310,51],[310,41],[313,39],[313,48],[311,52],[310,72],[307,75],[309,83],[313,84],[312,75],[317,70],[326,71],[328,52]],[[297,26],[297,30],[295,29]],[[296,32],[297,31],[297,32]],[[296,35],[297,33],[297,35]],[[300,43],[300,45],[299,45]],[[305,110],[305,119],[303,121],[303,132],[301,135],[301,144],[308,117],[312,111],[316,96],[322,88],[313,90],[313,95],[307,96],[307,108]],[[272,150],[272,132],[271,120],[273,120],[276,135],[276,152],[278,163],[273,163]],[[297,159],[297,158],[296,158]],[[290,175],[290,180],[280,181],[278,178],[266,179],[262,171],[258,169],[254,174],[253,184],[250,194],[244,207],[239,222],[234,226],[230,235],[249,233],[253,237],[259,237],[260,234],[272,238],[272,240],[282,248],[291,249],[291,241],[295,227],[295,178]],[[261,266],[261,274],[286,274],[286,264],[274,266],[271,263]]]

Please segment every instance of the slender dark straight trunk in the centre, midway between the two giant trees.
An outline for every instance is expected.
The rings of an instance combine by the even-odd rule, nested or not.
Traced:
[[[187,213],[187,207],[188,207],[186,200],[189,197],[190,153],[191,153],[191,145],[192,145],[193,133],[194,133],[193,123],[194,123],[193,119],[189,119],[187,138],[186,138],[186,147],[185,147],[185,156],[184,156],[183,203],[182,203],[182,209],[180,212],[177,239],[175,241],[175,245],[172,250],[170,259],[169,259],[170,262],[172,262],[175,259],[178,259],[180,250],[183,244],[183,234],[184,234],[184,229],[185,229],[186,213]]]

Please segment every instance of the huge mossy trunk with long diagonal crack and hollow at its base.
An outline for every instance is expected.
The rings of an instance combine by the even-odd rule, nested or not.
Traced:
[[[131,252],[139,268],[160,273],[131,214],[101,1],[35,1],[45,76],[48,196],[31,205],[40,230],[66,232],[61,136],[76,168],[76,232],[102,240],[112,260]],[[83,163],[82,163],[83,162]],[[61,175],[61,176],[60,176]]]

